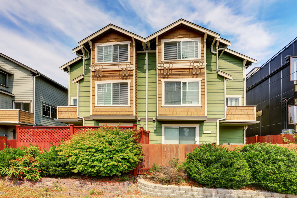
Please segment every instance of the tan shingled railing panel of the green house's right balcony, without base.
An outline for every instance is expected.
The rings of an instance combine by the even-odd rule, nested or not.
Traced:
[[[226,120],[256,121],[256,106],[227,106]]]

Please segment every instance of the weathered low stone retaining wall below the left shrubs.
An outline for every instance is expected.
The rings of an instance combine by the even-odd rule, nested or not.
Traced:
[[[104,192],[104,197],[114,197],[115,195],[125,195],[127,189],[132,186],[133,180],[125,182],[101,182],[92,180],[79,180],[79,179],[59,179],[59,178],[41,178],[37,181],[14,180],[9,177],[2,178],[4,185],[29,187],[29,188],[53,188],[53,187],[66,187],[66,195],[76,197],[89,195],[92,189],[101,190]]]

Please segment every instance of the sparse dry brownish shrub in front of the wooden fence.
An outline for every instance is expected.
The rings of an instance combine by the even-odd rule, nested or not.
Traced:
[[[170,183],[181,182],[185,176],[184,166],[180,163],[178,158],[170,159],[170,161],[163,166],[158,166],[154,163],[150,172],[154,174],[154,178],[157,180]]]

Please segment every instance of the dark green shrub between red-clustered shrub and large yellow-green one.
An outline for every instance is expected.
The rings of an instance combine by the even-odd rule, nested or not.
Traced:
[[[63,144],[63,142],[61,142]],[[67,176],[71,169],[67,168],[69,163],[66,156],[58,157],[61,151],[61,145],[52,145],[50,151],[44,150],[44,153],[38,159],[42,163],[46,175]]]

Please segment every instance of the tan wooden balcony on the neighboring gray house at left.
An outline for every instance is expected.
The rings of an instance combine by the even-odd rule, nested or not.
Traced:
[[[16,124],[33,125],[34,113],[19,109],[1,109],[0,124],[9,126],[14,126]]]

